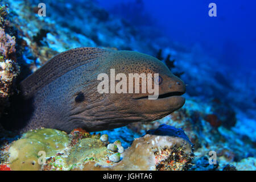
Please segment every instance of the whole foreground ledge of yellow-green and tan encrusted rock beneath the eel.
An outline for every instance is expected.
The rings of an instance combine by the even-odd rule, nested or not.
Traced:
[[[119,140],[101,138],[82,129],[69,135],[55,129],[28,131],[10,144],[3,164],[11,170],[184,170],[193,158],[184,138],[146,134],[123,153]]]

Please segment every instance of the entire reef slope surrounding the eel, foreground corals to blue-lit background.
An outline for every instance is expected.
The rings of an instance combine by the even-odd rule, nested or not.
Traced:
[[[234,78],[222,65],[214,70],[216,61],[200,46],[188,49],[158,34],[151,39],[147,36],[155,30],[138,28],[148,26],[143,19],[137,21],[141,26],[133,26],[129,19],[98,7],[94,1],[86,0],[77,6],[77,1],[46,0],[46,17],[37,14],[39,2],[0,2],[1,123],[7,122],[3,118],[9,117],[11,106],[17,105],[15,96],[20,93],[20,81],[49,63],[57,53],[77,47],[155,56],[187,85],[186,102],[162,119],[134,122],[117,129],[104,126],[100,129],[103,131],[96,133],[76,126],[65,127],[66,132],[64,127],[56,130],[36,126],[38,129],[18,135],[0,124],[0,170],[256,169],[255,86],[248,84],[255,82],[253,77],[237,73]],[[137,3],[128,4],[137,8],[143,5],[142,1]],[[130,21],[134,22],[136,16],[130,17]],[[140,17],[150,19],[146,14]],[[77,96],[76,103],[88,99],[85,94]],[[43,107],[38,108],[40,113]],[[47,112],[40,114],[43,113]],[[100,112],[96,114],[102,117]],[[44,122],[43,117],[39,116]],[[44,164],[39,164],[38,159],[43,156],[40,151],[46,152]],[[216,152],[216,164],[209,164],[210,151]]]

